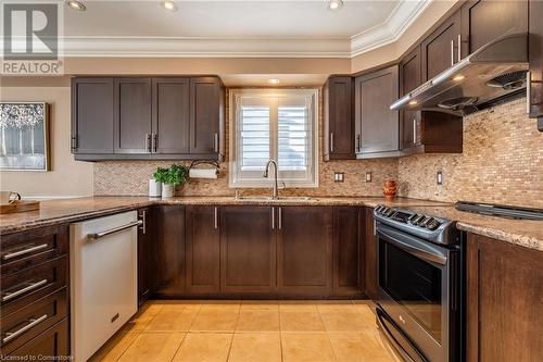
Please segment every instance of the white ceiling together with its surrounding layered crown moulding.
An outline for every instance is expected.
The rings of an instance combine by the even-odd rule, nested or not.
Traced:
[[[351,58],[393,42],[432,0],[84,0],[65,7],[64,50],[76,57]]]

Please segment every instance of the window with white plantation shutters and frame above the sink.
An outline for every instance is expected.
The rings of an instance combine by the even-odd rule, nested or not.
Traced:
[[[230,186],[269,187],[263,173],[274,159],[279,182],[317,187],[317,105],[316,89],[232,90]]]

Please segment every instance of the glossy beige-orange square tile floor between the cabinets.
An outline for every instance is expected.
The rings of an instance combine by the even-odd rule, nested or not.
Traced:
[[[91,361],[396,362],[365,301],[151,301]]]

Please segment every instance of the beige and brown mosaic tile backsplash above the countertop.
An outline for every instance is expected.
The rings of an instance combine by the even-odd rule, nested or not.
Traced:
[[[228,113],[227,113],[228,114]],[[228,128],[228,121],[227,121]],[[321,128],[321,126],[320,126]],[[228,129],[226,130],[228,134]],[[321,134],[321,133],[320,133]],[[323,140],[320,139],[319,149]],[[321,152],[319,152],[321,153]],[[172,161],[94,163],[94,195],[143,196],[157,166]],[[443,185],[435,173],[443,173]],[[344,183],[333,173],[343,172]],[[365,183],[371,172],[372,182]],[[287,189],[281,195],[381,196],[386,178],[400,182],[399,195],[437,201],[473,200],[543,208],[543,133],[525,113],[522,99],[464,118],[463,154],[421,154],[400,159],[319,162],[319,187]],[[269,194],[244,189],[244,195]],[[228,154],[217,179],[190,180],[178,196],[232,196]]]

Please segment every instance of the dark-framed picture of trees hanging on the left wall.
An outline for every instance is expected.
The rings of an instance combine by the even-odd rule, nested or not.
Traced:
[[[49,104],[0,102],[0,171],[49,171]]]

